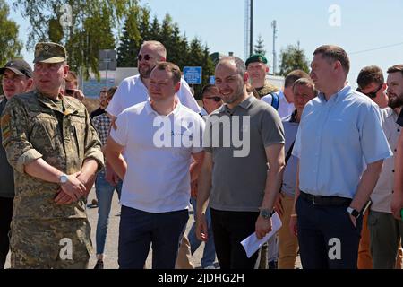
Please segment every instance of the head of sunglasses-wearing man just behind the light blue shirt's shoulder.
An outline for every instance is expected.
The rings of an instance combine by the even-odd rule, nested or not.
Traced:
[[[388,107],[388,96],[386,95],[387,84],[383,78],[382,69],[376,65],[365,66],[356,79],[358,89],[371,98],[381,109]]]

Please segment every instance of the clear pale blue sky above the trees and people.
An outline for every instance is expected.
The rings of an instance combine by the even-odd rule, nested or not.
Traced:
[[[270,65],[270,23],[273,20],[278,23],[278,55],[281,48],[296,44],[298,40],[308,61],[312,59],[313,50],[320,45],[339,45],[350,56],[348,78],[353,85],[359,70],[365,65],[379,65],[386,70],[390,65],[403,63],[403,0],[253,0],[253,3],[253,43],[261,34]],[[236,56],[244,57],[244,0],[141,0],[141,4],[148,4],[151,15],[157,15],[159,20],[169,13],[188,38],[198,37],[211,52],[227,54],[232,51]],[[339,9],[340,18],[334,23],[339,20],[340,25],[329,23],[336,16],[334,10],[329,12],[332,5]],[[12,11],[11,18],[20,25],[20,38],[25,43],[29,23],[19,12]],[[400,45],[381,48],[394,44]],[[373,50],[354,53],[368,49]],[[29,61],[32,60],[31,54],[23,51]]]

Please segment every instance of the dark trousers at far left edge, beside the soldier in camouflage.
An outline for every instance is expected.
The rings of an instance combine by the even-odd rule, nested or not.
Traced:
[[[0,269],[4,269],[10,248],[10,223],[13,218],[13,198],[0,197]]]

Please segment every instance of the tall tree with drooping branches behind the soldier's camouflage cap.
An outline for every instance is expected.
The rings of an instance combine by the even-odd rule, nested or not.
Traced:
[[[82,69],[88,77],[90,71],[99,76],[99,49],[116,48],[113,31],[138,1],[16,0],[13,5],[30,22],[28,48],[38,41],[57,41],[66,47],[72,69]]]

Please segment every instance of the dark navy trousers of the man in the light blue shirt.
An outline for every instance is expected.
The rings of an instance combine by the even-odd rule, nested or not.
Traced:
[[[347,207],[314,205],[298,197],[298,243],[304,269],[356,269],[362,216],[354,226]]]

